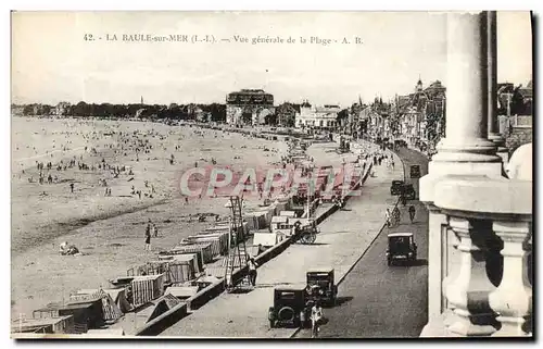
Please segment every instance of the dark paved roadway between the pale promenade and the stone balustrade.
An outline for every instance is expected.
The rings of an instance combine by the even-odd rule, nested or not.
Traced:
[[[421,175],[428,172],[428,160],[420,153],[400,150],[408,176],[409,164],[420,164]],[[414,183],[418,179],[409,179]],[[418,184],[414,183],[418,188]],[[330,321],[321,327],[324,338],[418,337],[428,320],[428,212],[419,201],[415,224],[408,223],[406,209],[401,208],[402,224],[384,228],[364,257],[339,286],[340,304],[325,309]],[[409,204],[409,203],[408,203]],[[387,234],[413,232],[418,245],[418,262],[414,266],[388,266],[384,252]],[[296,335],[310,337],[308,331]]]

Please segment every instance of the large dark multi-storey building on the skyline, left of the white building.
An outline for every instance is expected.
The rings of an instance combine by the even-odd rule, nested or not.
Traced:
[[[264,125],[273,114],[274,96],[262,89],[242,89],[226,97],[226,122],[229,125]]]

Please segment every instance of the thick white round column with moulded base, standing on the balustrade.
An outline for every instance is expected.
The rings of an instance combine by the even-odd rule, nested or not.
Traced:
[[[432,163],[450,164],[443,169],[446,174],[502,174],[496,146],[487,139],[484,24],[484,13],[447,14],[446,136],[432,158]]]

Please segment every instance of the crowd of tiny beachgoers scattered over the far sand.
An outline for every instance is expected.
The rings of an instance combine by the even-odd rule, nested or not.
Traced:
[[[190,157],[190,153],[198,153],[201,149],[182,149],[186,147],[181,147],[184,139],[195,140],[197,146],[200,147],[206,146],[205,141],[209,139],[220,139],[232,135],[228,129],[220,132],[192,126],[181,126],[184,129],[180,129],[176,126],[153,127],[152,125],[151,127],[149,124],[130,125],[131,129],[127,130],[122,128],[124,125],[121,123],[108,123],[101,127],[92,127],[91,122],[77,121],[71,124],[65,123],[64,126],[67,126],[68,130],[42,128],[41,134],[46,136],[45,139],[48,141],[43,141],[41,149],[39,146],[31,149],[31,153],[35,155],[15,160],[20,161],[18,165],[23,169],[18,171],[18,174],[14,173],[14,177],[18,176],[20,179],[24,177],[27,185],[39,188],[37,195],[42,200],[51,195],[60,195],[67,196],[67,199],[73,201],[79,200],[81,195],[88,196],[89,194],[123,198],[119,200],[126,200],[124,198],[157,199],[167,197],[165,194],[172,197],[171,194],[174,194],[172,191],[178,188],[167,187],[169,183],[154,179],[152,172],[143,173],[147,167],[152,166],[154,160],[165,161],[166,166],[168,163],[171,166],[175,165],[173,171],[176,171],[174,169],[191,166],[192,163],[189,165],[186,155]],[[251,134],[236,134],[236,137],[255,138]],[[64,142],[59,142],[59,139],[63,139]],[[48,144],[50,147],[52,145],[53,150],[47,148]],[[72,149],[73,145],[76,145],[74,149]],[[17,150],[24,149],[24,147],[23,141],[16,145]],[[193,166],[215,165],[220,160],[228,161],[228,166],[231,165],[231,162],[240,163],[242,161],[241,150],[247,147],[248,145],[243,142],[231,145],[230,157],[232,161],[224,158],[198,157],[193,161]],[[31,145],[27,145],[26,148],[29,150]],[[54,151],[59,148],[62,151]],[[278,149],[269,146],[258,145],[255,148],[257,151],[278,152]],[[37,158],[37,160],[31,158]],[[34,166],[29,165],[29,159],[34,162]],[[159,164],[157,166],[162,167],[163,165]],[[62,186],[66,186],[65,191]],[[102,189],[98,190],[99,188]],[[70,195],[75,195],[75,197],[70,197]],[[189,197],[181,197],[181,200],[185,204],[189,204]],[[156,226],[153,229],[156,229]]]

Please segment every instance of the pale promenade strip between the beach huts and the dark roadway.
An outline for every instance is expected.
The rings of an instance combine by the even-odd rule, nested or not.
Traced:
[[[313,147],[312,147],[313,148]],[[312,149],[310,148],[310,149]],[[319,157],[339,158],[327,152],[331,145],[317,145]],[[400,159],[396,159],[396,163]],[[344,276],[378,235],[384,211],[395,202],[390,196],[392,179],[401,179],[403,171],[377,166],[345,209],[319,225],[320,234],[311,246],[293,245],[258,267],[256,288],[248,294],[222,294],[194,313],[166,328],[160,336],[289,338],[295,329],[269,328],[267,310],[273,303],[274,287],[305,285],[305,272],[315,266],[333,266],[337,278]]]

